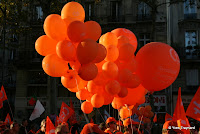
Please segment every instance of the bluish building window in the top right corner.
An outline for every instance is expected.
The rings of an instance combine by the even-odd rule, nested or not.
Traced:
[[[184,2],[184,18],[185,19],[197,18],[196,0],[186,0]]]

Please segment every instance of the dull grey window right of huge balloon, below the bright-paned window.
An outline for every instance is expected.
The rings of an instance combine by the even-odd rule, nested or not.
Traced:
[[[186,85],[187,86],[199,85],[199,70],[198,69],[186,69]]]

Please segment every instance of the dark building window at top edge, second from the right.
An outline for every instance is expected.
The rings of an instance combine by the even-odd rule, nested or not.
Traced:
[[[138,4],[138,20],[151,19],[150,15],[151,8],[145,2],[140,2]]]

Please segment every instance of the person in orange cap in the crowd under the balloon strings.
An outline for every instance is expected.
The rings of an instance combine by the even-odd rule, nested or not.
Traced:
[[[106,120],[106,127],[107,129],[104,131],[105,133],[113,134],[114,131],[117,129],[116,125],[117,121],[113,117],[109,117]]]

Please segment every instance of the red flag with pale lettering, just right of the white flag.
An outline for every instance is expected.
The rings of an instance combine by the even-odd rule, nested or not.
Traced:
[[[67,104],[62,102],[60,114],[59,114],[59,123],[67,122],[69,117],[74,113],[74,110],[72,110]]]

